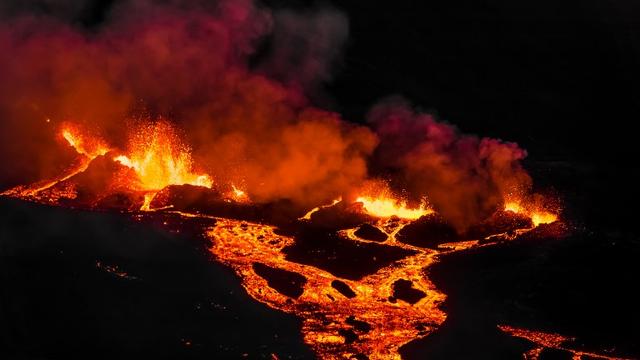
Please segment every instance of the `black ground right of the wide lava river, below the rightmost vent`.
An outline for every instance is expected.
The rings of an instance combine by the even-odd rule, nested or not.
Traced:
[[[576,337],[580,349],[615,347],[611,356],[639,358],[640,298],[629,286],[640,273],[636,235],[573,228],[558,237],[566,231],[561,222],[540,225],[513,241],[443,257],[429,274],[447,294],[449,316],[437,332],[403,346],[402,356],[521,358],[534,345],[496,331],[497,324],[507,324]],[[603,291],[594,291],[594,284]],[[541,360],[567,358],[545,352]]]

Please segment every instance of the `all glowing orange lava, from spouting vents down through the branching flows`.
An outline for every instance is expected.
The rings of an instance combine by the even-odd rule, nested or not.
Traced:
[[[200,219],[199,225],[194,226],[199,226],[197,230],[209,239],[209,250],[215,258],[239,274],[242,286],[251,297],[302,318],[305,343],[325,359],[399,359],[401,346],[436,331],[447,318],[440,308],[446,295],[436,288],[428,276],[431,265],[447,254],[512,240],[540,225],[558,221],[555,213],[536,210],[521,205],[521,202],[507,202],[504,210],[499,210],[496,215],[507,219],[509,224],[506,230],[505,226],[495,226],[494,229],[491,223],[481,227],[489,227],[490,231],[476,229],[473,232],[470,229],[465,235],[453,236],[456,232],[447,230],[448,241],[422,246],[400,239],[401,233],[410,226],[420,224],[437,224],[440,228],[446,228],[443,220],[427,205],[426,200],[411,207],[385,187],[383,191],[357,194],[352,197],[355,199],[353,203],[345,203],[338,198],[330,204],[315,207],[301,217],[288,220],[288,227],[296,231],[282,235],[275,225],[266,221],[221,217],[207,213],[206,209],[177,209],[173,203],[152,207],[156,194],[160,192],[197,193],[188,187],[175,190],[175,186],[180,185],[203,189],[198,196],[224,199],[220,201],[223,206],[244,206],[242,209],[254,206],[249,193],[234,184],[225,185],[230,189],[226,195],[216,193],[212,189],[212,178],[194,170],[189,148],[168,122],[159,121],[139,127],[126,151],[112,149],[99,138],[81,134],[77,128],[65,127],[61,133],[77,151],[78,165],[51,181],[20,186],[3,195],[48,204],[63,204],[62,198],[73,201],[79,192],[77,188],[85,181],[76,175],[89,172],[93,161],[103,157],[110,166],[106,167],[115,169],[111,174],[113,179],[104,191],[120,189],[124,191],[121,196],[134,199],[142,196],[140,206],[126,208],[129,211],[145,211],[137,212],[138,217],[161,215]],[[106,197],[98,194],[98,198],[89,204],[98,206],[95,204],[101,204],[100,201],[104,202]],[[350,226],[334,224],[329,226],[330,230],[324,227],[322,231],[326,231],[329,234],[327,236],[337,237],[333,241],[355,248],[375,247],[383,249],[385,253],[394,252],[398,254],[397,257],[378,265],[378,260],[373,256],[375,269],[361,276],[346,276],[320,264],[292,259],[288,249],[300,243],[304,245],[305,241],[298,232],[321,231],[314,227],[316,216],[330,212],[338,214],[337,218],[340,219],[358,219]],[[97,262],[96,266],[121,278],[133,278],[116,266],[106,266],[101,262]],[[274,277],[285,278],[285,285],[275,284]],[[567,338],[559,335],[545,335],[506,326],[500,329],[536,344],[533,350],[525,354],[527,358],[537,358],[544,348],[569,351],[576,359],[582,356],[610,358],[571,350],[563,346]]]

